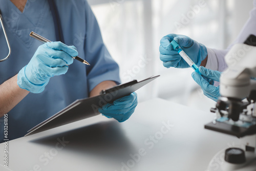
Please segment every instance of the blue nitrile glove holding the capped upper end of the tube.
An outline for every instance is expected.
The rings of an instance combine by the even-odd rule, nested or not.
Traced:
[[[163,61],[164,67],[189,68],[187,62],[170,44],[173,40],[180,45],[181,49],[196,63],[197,66],[200,66],[202,60],[206,58],[207,49],[204,45],[184,35],[169,34],[161,39],[159,48],[160,59]]]

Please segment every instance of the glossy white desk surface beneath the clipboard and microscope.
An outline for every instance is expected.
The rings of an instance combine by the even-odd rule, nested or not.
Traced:
[[[204,171],[218,151],[239,142],[236,137],[205,130],[204,124],[213,118],[211,113],[153,99],[139,103],[123,123],[96,116],[9,141],[9,169]],[[163,124],[168,121],[173,124],[170,130]],[[155,140],[150,136],[156,136]],[[59,143],[62,138],[69,142]],[[143,156],[131,160],[130,155],[139,151]],[[2,143],[0,156],[3,153]]]

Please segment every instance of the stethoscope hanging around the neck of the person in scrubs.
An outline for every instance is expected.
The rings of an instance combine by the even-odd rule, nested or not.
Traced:
[[[52,11],[56,40],[64,42],[63,32],[62,32],[62,29],[60,27],[61,26],[60,18],[59,18],[59,14],[58,14],[58,10],[57,10],[56,4],[54,3],[53,0],[48,0],[48,3],[49,3],[49,6],[50,6],[50,10]],[[5,26],[4,26],[1,10],[0,10],[0,23],[1,23],[1,26],[2,26],[2,29],[3,29],[4,35],[5,35],[6,43],[7,43],[8,49],[9,49],[8,55],[4,59],[0,59],[0,62],[3,62],[3,61],[7,60],[10,57],[10,55],[11,55],[11,46],[10,46],[9,39],[7,37],[7,34],[6,34],[6,30],[5,30]]]

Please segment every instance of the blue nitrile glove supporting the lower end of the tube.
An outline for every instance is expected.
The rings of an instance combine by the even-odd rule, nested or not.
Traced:
[[[211,80],[220,81],[221,72],[219,71],[209,70],[204,67],[199,67],[199,71],[203,76]],[[207,97],[209,97],[214,101],[218,101],[218,98],[220,97],[220,86],[218,87],[212,86],[209,83],[209,81],[206,81],[197,72],[193,72],[192,77],[199,84],[199,86],[201,86],[204,92],[204,95],[206,95]]]

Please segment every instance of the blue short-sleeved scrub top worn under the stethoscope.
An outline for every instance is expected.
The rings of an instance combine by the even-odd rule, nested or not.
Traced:
[[[8,113],[9,139],[24,136],[28,130],[51,117],[76,99],[86,98],[102,81],[120,82],[119,68],[103,44],[97,20],[86,0],[56,0],[65,44],[74,45],[79,57],[91,66],[74,60],[65,75],[55,76],[40,94],[29,93]],[[47,0],[28,0],[20,12],[9,0],[0,0],[4,25],[12,54],[0,62],[0,84],[16,75],[28,64],[42,43],[29,36],[34,31],[56,41],[53,16]],[[0,58],[8,54],[0,28]],[[0,122],[1,142],[4,137],[3,117]]]

